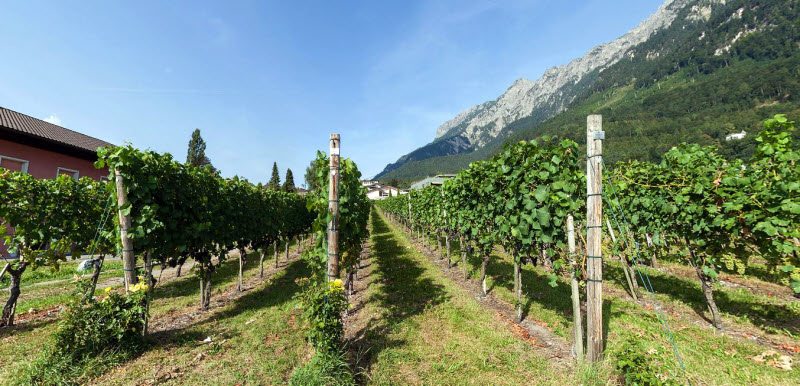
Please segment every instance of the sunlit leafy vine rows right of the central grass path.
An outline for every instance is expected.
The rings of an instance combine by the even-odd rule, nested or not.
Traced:
[[[517,321],[522,321],[527,303],[523,264],[540,267],[541,280],[551,287],[568,281],[571,352],[579,359],[584,344],[594,343],[589,330],[593,306],[586,303],[592,294],[582,299],[581,288],[588,290],[599,281],[592,277],[591,266],[602,256],[618,259],[625,290],[643,302],[642,287],[657,295],[647,272],[659,266],[659,256],[691,267],[709,322],[724,330],[714,294],[721,272],[745,274],[752,269],[749,264],[758,261],[776,283],[790,287],[795,297],[800,294],[800,153],[792,142],[794,124],[778,115],[764,126],[748,162],[728,161],[713,147],[684,144],[664,154],[658,164],[614,165],[601,181],[602,189],[594,191],[587,190],[587,176],[603,168],[591,163],[594,154],[590,152],[585,162],[578,144],[570,140],[522,141],[490,160],[470,164],[440,187],[412,191],[378,206],[420,240],[435,240],[432,246],[443,251],[448,268],[453,263],[451,244],[457,242],[465,278],[471,276],[467,261],[477,259],[479,267],[474,268],[482,295],[488,293],[487,272],[495,248],[501,248],[513,262]],[[591,214],[586,203],[601,194],[607,210],[602,224],[586,216]],[[599,243],[595,252],[587,243],[592,228],[604,228],[610,235],[602,254],[597,253]],[[585,239],[578,237],[585,254],[576,254],[575,229],[588,232]],[[790,304],[792,323],[798,321],[796,305]],[[582,309],[590,324],[585,343]],[[684,378],[680,347],[664,316],[659,312],[658,317],[680,367],[659,375]],[[794,336],[794,331],[786,333]]]

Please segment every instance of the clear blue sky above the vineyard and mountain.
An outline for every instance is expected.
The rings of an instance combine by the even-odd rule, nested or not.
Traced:
[[[199,128],[224,175],[301,184],[329,133],[371,177],[661,1],[0,3],[0,106],[181,161]]]

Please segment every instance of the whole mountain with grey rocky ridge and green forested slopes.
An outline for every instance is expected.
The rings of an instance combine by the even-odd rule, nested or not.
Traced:
[[[798,52],[797,16],[796,0],[667,0],[620,38],[547,70],[535,81],[519,79],[497,99],[473,106],[443,123],[432,143],[387,165],[376,177],[412,180],[454,172],[471,161],[490,156],[506,141],[542,134],[580,141],[580,119],[585,120],[583,115],[594,112],[603,113],[607,123],[617,123],[608,119],[612,118],[622,125],[638,126],[635,130],[622,128],[626,132],[623,137],[641,139],[644,132],[649,132],[663,141],[639,152],[625,151],[619,158],[653,158],[660,149],[689,139],[720,144],[717,137],[724,136],[720,127],[703,127],[702,121],[724,119],[723,113],[730,117],[745,113],[739,123],[752,128],[772,110],[796,109],[797,77],[793,77],[791,68]],[[772,75],[767,74],[770,65]],[[788,73],[777,79],[775,71]],[[724,95],[703,93],[700,85],[712,80],[712,89],[732,83],[729,86],[734,90],[725,86],[718,90]],[[762,84],[757,84],[759,81]],[[758,95],[750,92],[755,88],[759,89]],[[681,91],[676,92],[677,89]],[[699,97],[693,101],[695,106],[687,106],[683,114],[662,114],[673,105],[685,103],[682,95],[688,94]],[[666,95],[676,99],[664,99]],[[726,105],[726,111],[711,108],[721,104]],[[713,111],[700,119],[696,115],[701,112],[698,108]],[[655,115],[648,115],[648,111]],[[630,115],[621,116],[620,112]],[[630,119],[643,115],[647,118]],[[672,120],[664,120],[666,115]],[[569,130],[565,128],[567,123]],[[676,126],[679,124],[681,128]],[[717,137],[709,138],[711,133]],[[615,139],[623,138],[612,137],[610,142]],[[618,143],[637,146],[634,139]]]

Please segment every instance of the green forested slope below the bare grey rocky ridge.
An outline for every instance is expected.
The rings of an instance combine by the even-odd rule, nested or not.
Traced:
[[[581,142],[589,113],[604,115],[612,161],[655,159],[684,141],[746,155],[752,137],[725,142],[724,136],[756,130],[758,122],[776,112],[798,112],[800,2],[695,0],[667,2],[662,9],[670,5],[681,6],[674,21],[628,49],[624,59],[572,84],[575,95],[565,110],[547,118],[531,114],[517,119],[466,151],[421,151],[446,139],[444,134],[378,178],[413,180],[454,172],[509,140],[550,134]]]

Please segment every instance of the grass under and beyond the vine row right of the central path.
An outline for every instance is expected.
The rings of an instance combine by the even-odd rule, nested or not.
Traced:
[[[454,261],[457,256],[460,259],[457,248],[453,256]],[[480,259],[471,256],[468,267],[471,278],[478,280]],[[461,270],[463,267],[456,269]],[[705,309],[696,280],[645,270],[650,274],[659,301],[674,309],[674,313],[667,315],[667,320],[685,363],[686,375],[683,375],[672,353],[670,342],[665,337],[655,312],[644,309],[626,296],[614,296],[607,291],[604,297],[604,324],[607,335],[606,357],[610,361],[621,351],[622,343],[632,338],[642,342],[652,353],[652,359],[660,364],[663,375],[678,380],[688,378],[692,383],[712,385],[791,385],[800,379],[800,369],[797,366],[792,371],[785,371],[751,359],[769,347],[718,334],[707,322],[696,323],[697,318],[681,317],[683,313],[702,313]],[[511,257],[500,252],[493,254],[487,273],[491,292],[513,303]],[[604,285],[607,288],[615,289],[617,293],[623,291],[625,279],[618,264],[609,264],[606,261],[604,276]],[[524,305],[527,318],[541,321],[556,334],[570,338],[572,308],[569,284],[561,280],[556,287],[551,287],[543,269],[526,265],[523,267],[523,291],[527,295]],[[796,323],[791,324],[798,317],[796,303],[779,301],[741,289],[718,288],[715,294],[725,316],[724,323],[743,323],[745,327],[762,328],[767,332],[775,328],[772,326],[782,326],[787,331],[794,331],[798,326]],[[789,341],[800,345],[796,333]],[[795,363],[798,359],[800,358],[795,355]],[[606,363],[601,367],[611,366],[613,363]]]

